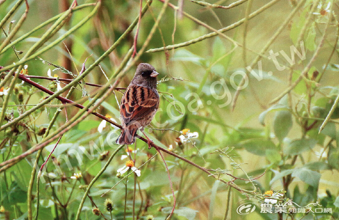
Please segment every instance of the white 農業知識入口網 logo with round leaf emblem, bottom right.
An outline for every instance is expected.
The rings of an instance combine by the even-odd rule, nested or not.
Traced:
[[[255,211],[257,203],[247,202],[241,204],[237,208],[237,213],[239,215],[248,215]],[[310,203],[305,206],[300,206],[293,201],[287,201],[285,203],[261,203],[260,204],[260,213],[332,213],[332,208],[320,207],[318,202]]]

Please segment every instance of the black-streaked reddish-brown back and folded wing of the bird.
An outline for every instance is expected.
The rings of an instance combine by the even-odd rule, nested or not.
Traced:
[[[120,105],[120,115],[127,125],[131,121],[139,120],[159,105],[159,96],[151,89],[143,86],[128,86]]]

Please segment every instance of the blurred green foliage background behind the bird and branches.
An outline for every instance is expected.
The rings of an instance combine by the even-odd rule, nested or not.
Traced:
[[[0,0],[0,2],[0,19],[2,19],[13,8],[15,1]],[[144,5],[145,1],[142,2]],[[180,2],[180,0],[170,1],[175,6],[180,6]],[[27,18],[15,37],[11,39],[12,41],[63,12],[64,5],[67,5],[67,9],[71,4],[67,0],[31,0],[28,3]],[[90,2],[78,1],[78,5],[86,3]],[[211,3],[229,5],[232,2]],[[184,1],[183,10],[213,28],[220,29],[244,18],[247,7],[250,7],[250,11],[253,12],[265,4],[267,1],[249,0],[237,7],[222,9],[205,8]],[[254,73],[262,73],[262,80],[258,81],[246,67],[255,60],[268,39],[274,35],[287,15],[298,4],[302,6],[295,16],[287,22],[273,44],[264,51],[263,56],[259,54],[260,64],[254,63],[252,67]],[[161,1],[154,0],[142,17],[138,49],[145,43],[162,5]],[[74,12],[56,36],[45,42],[43,47],[76,25],[93,10],[93,7],[88,6]],[[24,10],[23,3],[3,25],[4,31],[10,32],[7,28],[9,21],[18,21]],[[180,14],[180,7],[178,10],[173,10],[167,6],[146,50],[190,41],[213,32],[185,16],[181,18]],[[145,129],[155,144],[190,159],[209,169],[213,174],[217,174],[221,179],[232,181],[247,191],[253,190],[253,186],[250,181],[243,179],[254,179],[264,173],[263,176],[252,181],[257,188],[257,195],[262,196],[266,191],[273,190],[275,193],[284,192],[281,202],[293,200],[300,206],[318,202],[322,208],[332,208],[332,213],[326,214],[261,213],[260,204],[264,197],[260,199],[258,196],[239,192],[234,188],[229,191],[229,186],[226,184],[209,177],[185,161],[164,153],[177,201],[172,219],[339,218],[339,179],[337,178],[339,134],[336,130],[339,106],[333,107],[339,92],[337,14],[337,1],[278,1],[258,16],[248,20],[246,29],[242,24],[224,32],[242,46],[232,43],[230,39],[227,40],[219,34],[217,37],[206,38],[182,48],[140,54],[137,63],[150,63],[160,73],[157,87],[161,100],[159,110],[150,128]],[[56,74],[58,78],[69,78],[71,76],[69,73],[78,76],[85,59],[88,57],[85,63],[88,67],[124,33],[138,15],[139,1],[103,1],[95,16],[64,39],[63,43],[42,53],[41,59],[36,58],[25,63],[28,65],[26,74],[47,77],[47,70],[51,69],[52,76]],[[16,22],[13,23],[15,24]],[[16,43],[15,49],[25,54],[50,26],[51,24],[48,24]],[[117,70],[133,45],[135,31],[136,28],[100,62],[102,70],[95,67],[85,77],[84,82],[105,84],[107,80],[103,72],[110,78]],[[0,43],[5,39],[5,35],[1,34]],[[288,57],[292,56],[293,52],[290,55],[289,50],[293,45],[301,51],[298,40],[303,41],[305,59],[301,60],[294,55],[296,62],[290,65],[281,51],[285,51]],[[65,50],[65,45],[68,45],[69,53]],[[319,45],[322,47],[312,60]],[[269,50],[279,51],[277,57],[279,64],[288,68],[277,70],[272,59],[267,59]],[[23,57],[21,54],[18,56],[20,59]],[[301,76],[310,61],[312,61],[310,68],[305,75]],[[11,65],[14,62],[17,62],[17,58],[12,48],[0,55],[1,66]],[[134,75],[134,70],[135,66],[121,79],[118,86],[126,87]],[[246,72],[249,85],[240,90],[236,107],[232,111],[231,100],[234,99],[237,90],[233,84],[239,85],[241,82],[241,75],[232,78],[233,73],[237,71]],[[5,74],[4,72],[1,74],[3,75],[0,79],[3,80]],[[270,103],[300,77],[302,77],[301,81],[279,102]],[[57,84],[54,81],[32,80],[52,91],[57,91]],[[21,84],[20,80],[15,83],[4,113],[4,123],[11,122],[31,109],[30,105],[37,105],[47,97],[46,93],[27,83]],[[9,81],[4,85],[3,90],[8,87]],[[97,88],[86,85],[85,91],[88,97],[82,97],[84,90],[78,86],[69,98],[86,105],[91,101],[96,90]],[[0,105],[3,105],[5,96],[0,93]],[[109,114],[112,120],[119,124],[120,113],[117,101],[120,101],[121,96],[122,93],[119,91],[112,93],[96,111],[102,115]],[[332,107],[333,114],[329,115],[324,129],[318,133]],[[65,113],[61,109],[60,102],[54,100],[19,123],[0,131],[0,162],[18,156],[40,143],[55,112],[60,111],[60,114],[52,130],[65,124]],[[78,112],[78,109],[67,106],[67,112],[70,118]],[[36,190],[35,180],[33,181],[31,197],[33,217],[36,215],[35,203],[39,195],[38,219],[75,219],[87,185],[118,147],[114,138],[119,134],[119,129],[107,124],[100,133],[98,132],[100,123],[101,119],[89,115],[63,135],[42,172],[39,192]],[[191,133],[198,132],[198,136],[180,139],[181,134],[173,130],[159,131],[152,128],[175,131],[188,129]],[[38,168],[54,146],[55,142],[44,148],[38,160]],[[156,154],[155,149],[148,150],[146,146],[140,139],[136,141],[135,146],[131,146],[133,150],[139,149],[136,154],[129,153],[131,156],[135,155],[136,167]],[[151,215],[154,219],[165,219],[171,212],[174,198],[169,187],[167,172],[159,155],[140,168],[140,177],[129,175],[127,182],[124,179],[111,192],[101,197],[127,174],[117,176],[117,170],[128,160],[121,160],[120,157],[123,155],[126,155],[125,148],[118,152],[95,182],[85,200],[80,219],[123,219],[125,208],[125,218],[132,219],[133,207],[135,207],[134,216],[135,218],[138,216],[139,219],[148,219]],[[36,153],[28,155],[0,173],[0,206],[2,207],[0,219],[27,219],[27,189],[35,156]],[[71,176],[77,173],[81,173],[82,177],[71,179]],[[227,174],[237,178],[233,179]],[[127,190],[126,196],[125,190]],[[250,198],[251,196],[253,198]],[[107,198],[113,201],[112,212],[105,209],[104,201]],[[237,207],[250,201],[257,203],[255,211],[248,215],[239,215]],[[96,216],[92,213],[95,206],[99,208],[102,215]]]

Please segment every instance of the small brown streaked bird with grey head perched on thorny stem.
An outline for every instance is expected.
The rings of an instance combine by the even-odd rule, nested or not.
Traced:
[[[159,73],[148,63],[140,63],[134,78],[128,85],[120,103],[121,133],[117,144],[131,145],[135,142],[138,129],[147,138],[148,149],[153,141],[147,137],[144,128],[152,122],[158,107],[157,75]]]

